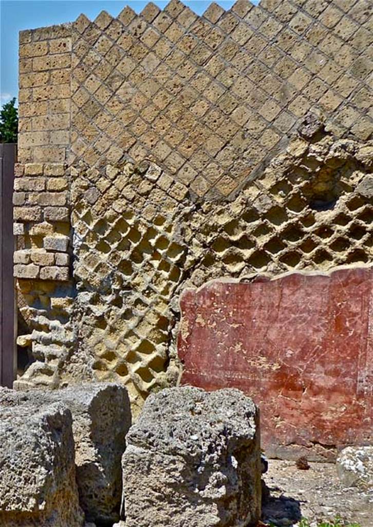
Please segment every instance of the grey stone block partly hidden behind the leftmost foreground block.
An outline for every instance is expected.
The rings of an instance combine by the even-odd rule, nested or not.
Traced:
[[[61,401],[70,409],[80,505],[87,521],[111,526],[119,519],[122,497],[120,461],[131,425],[126,388],[97,383],[51,391],[0,391],[0,407],[27,401],[33,404]]]

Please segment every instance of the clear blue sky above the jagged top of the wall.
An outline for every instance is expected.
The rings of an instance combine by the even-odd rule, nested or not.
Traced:
[[[168,3],[158,0],[153,0],[153,2],[161,8]],[[215,0],[215,2],[225,9],[229,9],[234,4],[234,0]],[[210,3],[204,0],[184,0],[184,4],[197,14],[202,14]],[[139,13],[146,4],[146,1],[132,0],[127,0],[127,2],[126,0],[0,0],[0,104],[4,104],[18,94],[19,31],[72,22],[80,13],[84,13],[93,20],[103,9],[116,16],[125,5],[131,6]]]

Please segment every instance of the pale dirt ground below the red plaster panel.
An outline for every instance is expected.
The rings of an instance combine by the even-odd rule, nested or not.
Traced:
[[[263,479],[270,497],[263,506],[264,523],[287,527],[307,518],[316,526],[339,515],[361,527],[373,526],[373,490],[342,486],[334,464],[309,463],[308,470],[299,470],[294,461],[268,463]]]

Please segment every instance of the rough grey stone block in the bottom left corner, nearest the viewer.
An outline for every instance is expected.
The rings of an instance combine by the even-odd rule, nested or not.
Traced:
[[[72,416],[61,403],[0,406],[0,525],[82,527]],[[12,402],[13,401],[13,402]]]

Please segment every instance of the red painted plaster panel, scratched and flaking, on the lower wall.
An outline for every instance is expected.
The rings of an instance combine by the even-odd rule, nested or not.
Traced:
[[[253,397],[269,455],[371,443],[372,269],[213,281],[180,305],[182,384]]]

